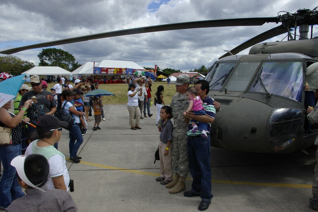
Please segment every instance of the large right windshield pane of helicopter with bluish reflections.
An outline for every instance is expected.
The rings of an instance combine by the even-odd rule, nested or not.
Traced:
[[[265,62],[260,73],[266,90],[301,102],[303,90],[302,62]],[[249,91],[264,92],[259,82]]]

